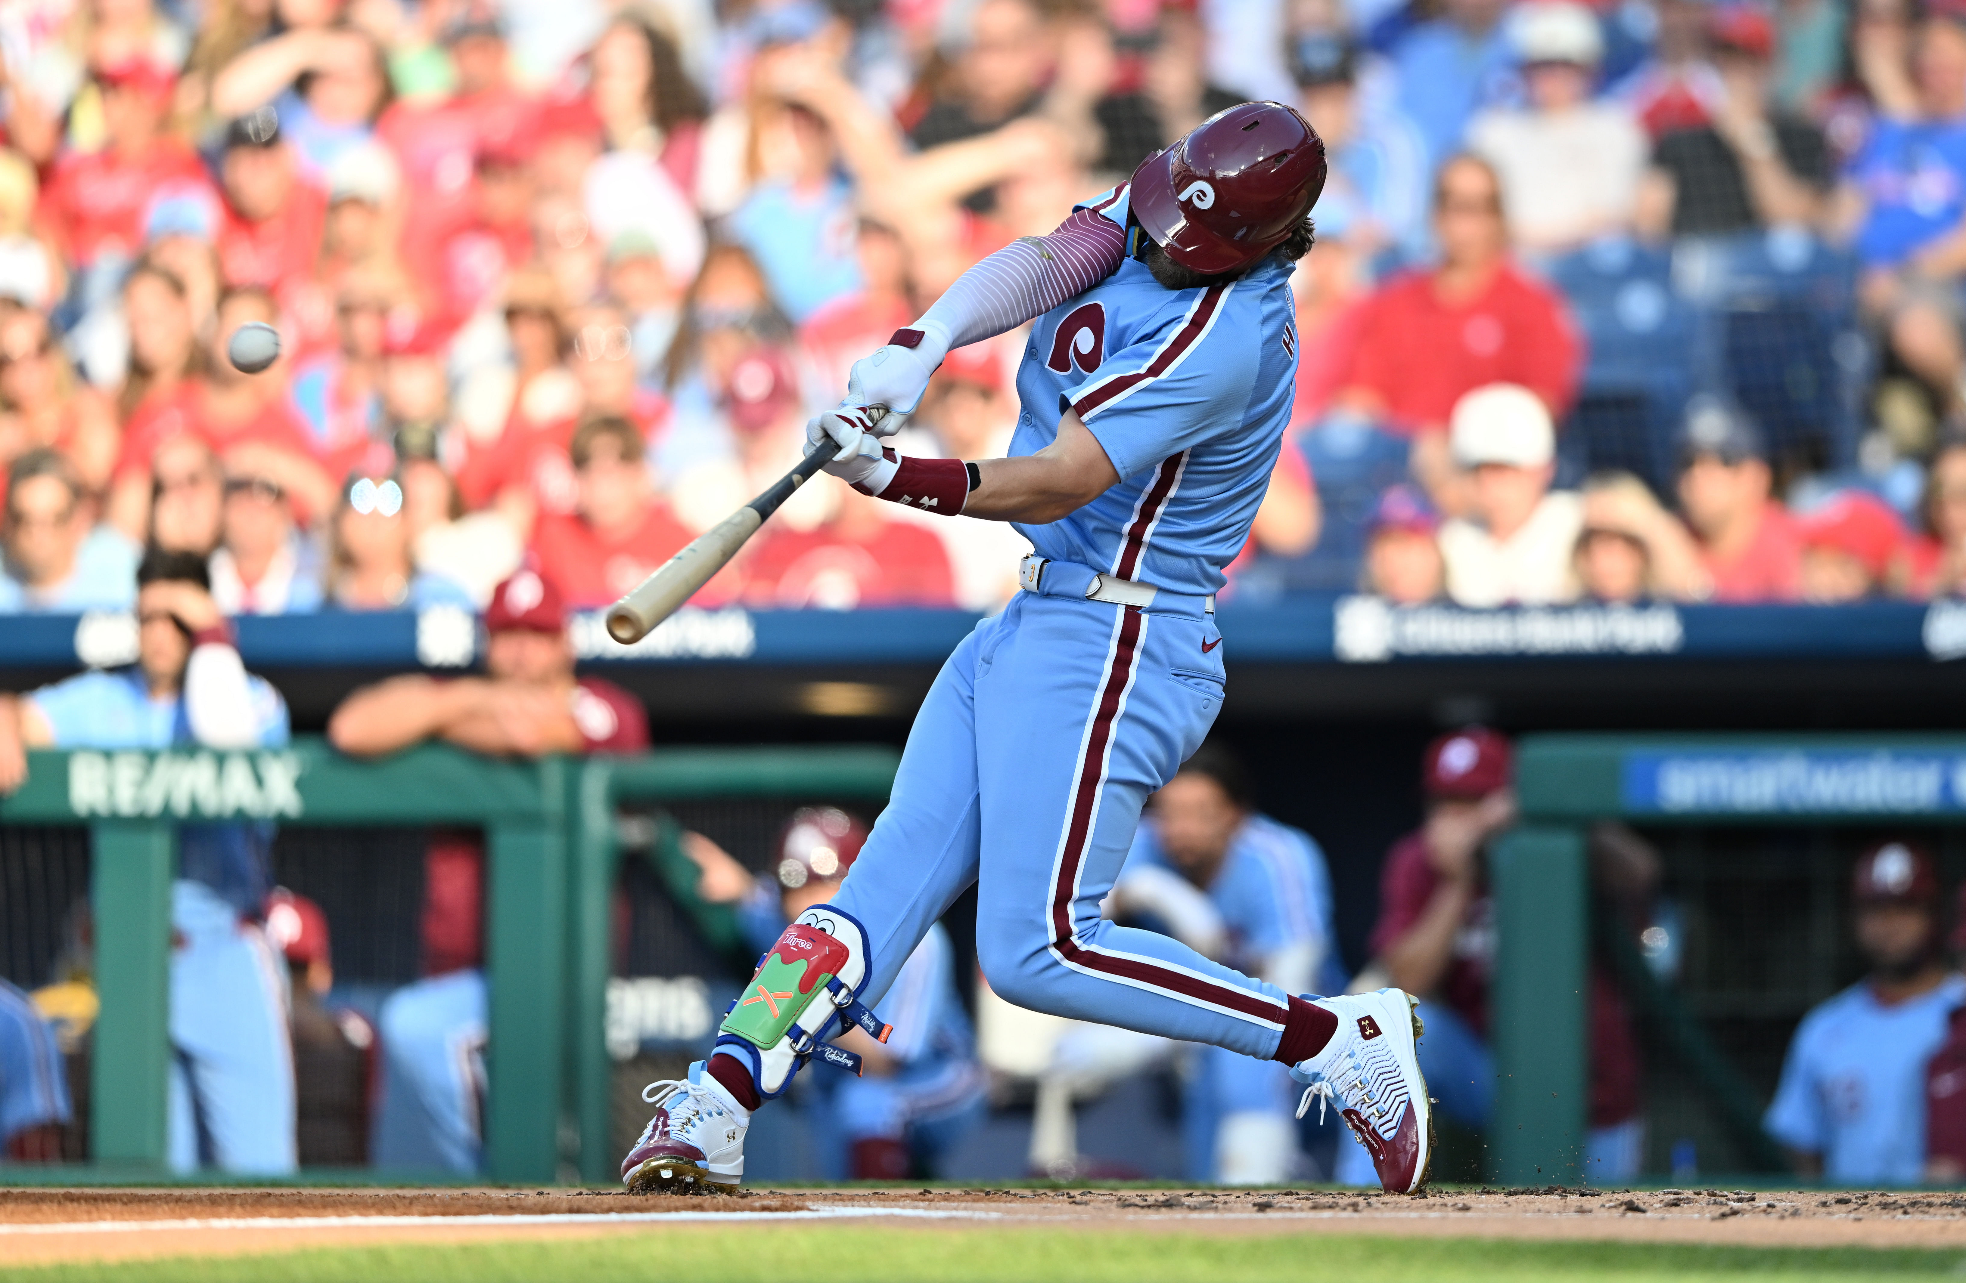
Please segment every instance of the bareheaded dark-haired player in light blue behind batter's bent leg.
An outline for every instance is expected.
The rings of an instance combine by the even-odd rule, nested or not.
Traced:
[[[1325,855],[1252,802],[1235,756],[1203,745],[1148,804],[1109,910],[1286,992],[1341,990]],[[1195,1051],[1184,1077],[1189,1179],[1282,1185],[1303,1175],[1290,1073],[1225,1047]]]

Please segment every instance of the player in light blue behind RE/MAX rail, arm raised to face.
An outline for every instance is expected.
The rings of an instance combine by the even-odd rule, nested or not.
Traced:
[[[204,560],[151,550],[136,572],[138,662],[0,697],[0,794],[28,778],[26,747],[273,749],[287,703],[246,672],[212,603]],[[171,884],[173,1171],[281,1175],[297,1165],[285,967],[260,914],[271,890],[263,821],[177,827]]]

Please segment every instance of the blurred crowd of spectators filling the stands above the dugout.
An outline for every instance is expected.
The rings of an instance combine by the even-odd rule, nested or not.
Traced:
[[[14,0],[0,61],[0,611],[128,605],[145,546],[228,615],[482,609],[521,564],[602,605],[965,267],[1244,98],[1331,181],[1233,591],[1966,580],[1954,0]],[[1815,346],[1649,362],[1634,464],[1608,363],[1756,238],[1834,267]],[[1661,253],[1600,328],[1579,263]],[[999,452],[1020,356],[954,354],[904,448]],[[702,603],[991,609],[1020,548],[816,485]]]

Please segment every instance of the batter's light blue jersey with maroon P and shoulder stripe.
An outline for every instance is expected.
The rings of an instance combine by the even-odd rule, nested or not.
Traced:
[[[1127,226],[1127,189],[1079,208]],[[1040,556],[1176,593],[1221,589],[1290,424],[1290,273],[1272,255],[1229,285],[1170,291],[1127,259],[1038,318],[1009,454],[1052,444],[1073,409],[1121,475],[1070,517],[1016,525]]]

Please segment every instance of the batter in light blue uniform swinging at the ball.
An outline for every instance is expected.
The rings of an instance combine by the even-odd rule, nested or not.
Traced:
[[[1030,538],[1020,591],[944,664],[887,811],[839,894],[798,916],[731,1006],[708,1063],[657,1085],[623,1163],[633,1191],[733,1189],[751,1112],[838,1020],[879,1030],[928,927],[977,886],[977,955],[1009,1002],[1292,1067],[1364,1138],[1388,1191],[1425,1183],[1427,1088],[1398,990],[1305,998],[1099,902],[1146,796],[1223,701],[1215,591],[1276,464],[1298,363],[1290,273],[1311,246],[1325,149],[1298,112],[1244,102],[1132,179],[963,273],[853,365],[814,420],[828,472]],[[957,346],[1036,318],[1011,458],[922,460],[861,407],[908,413]]]

